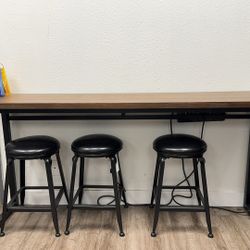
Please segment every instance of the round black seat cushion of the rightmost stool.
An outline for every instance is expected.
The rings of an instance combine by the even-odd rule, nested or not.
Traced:
[[[165,157],[198,158],[207,150],[207,144],[193,135],[163,135],[155,139],[153,148]]]

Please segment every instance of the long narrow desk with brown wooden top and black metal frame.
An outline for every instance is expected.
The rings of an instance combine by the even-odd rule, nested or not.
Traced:
[[[250,91],[203,93],[12,94],[0,98],[5,144],[14,120],[177,119],[213,121],[250,119]],[[250,147],[249,147],[250,148]],[[250,151],[244,207],[250,214]],[[12,168],[10,193],[16,192]],[[18,201],[16,201],[18,203]]]

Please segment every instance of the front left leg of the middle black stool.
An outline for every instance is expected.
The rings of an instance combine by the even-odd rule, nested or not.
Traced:
[[[78,157],[73,157],[73,166],[72,166],[72,173],[71,173],[71,182],[70,182],[70,193],[69,193],[69,206],[68,206],[68,215],[67,215],[67,224],[64,234],[69,235],[69,226],[70,226],[70,220],[71,220],[71,214],[72,214],[72,208],[73,208],[73,198],[74,198],[74,187],[75,187],[75,178],[76,178],[76,167],[77,167],[77,160]]]

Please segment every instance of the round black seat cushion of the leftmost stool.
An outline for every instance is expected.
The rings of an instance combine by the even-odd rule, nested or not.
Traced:
[[[8,158],[13,159],[44,159],[57,153],[60,143],[57,139],[35,135],[22,137],[6,145]]]

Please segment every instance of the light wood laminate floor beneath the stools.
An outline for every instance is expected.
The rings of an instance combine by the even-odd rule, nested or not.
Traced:
[[[204,213],[161,212],[158,236],[150,236],[153,210],[122,209],[126,236],[119,237],[114,211],[74,210],[71,234],[54,237],[50,213],[15,213],[6,224],[0,249],[203,250],[250,249],[250,217],[212,209],[214,238],[207,237]],[[63,233],[66,209],[59,209]]]

